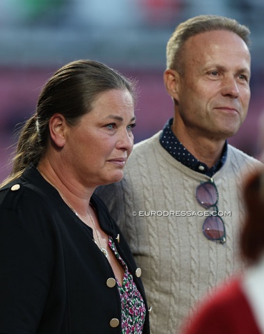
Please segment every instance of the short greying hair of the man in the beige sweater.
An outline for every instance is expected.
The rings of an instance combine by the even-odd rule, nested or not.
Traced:
[[[199,15],[182,22],[172,33],[170,40],[167,42],[167,69],[170,68],[179,73],[183,72],[184,59],[181,53],[186,40],[199,33],[215,30],[227,30],[236,33],[249,47],[250,31],[247,26],[239,24],[236,19],[229,19],[228,17]]]

